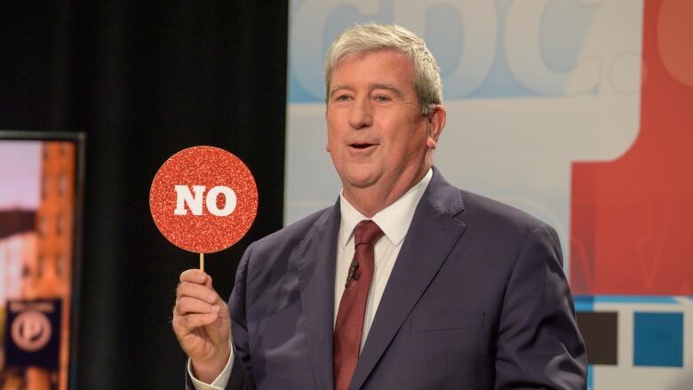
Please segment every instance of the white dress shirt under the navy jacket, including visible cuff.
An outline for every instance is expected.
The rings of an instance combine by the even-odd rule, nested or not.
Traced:
[[[368,337],[370,325],[373,323],[380,298],[383,296],[387,280],[390,278],[394,267],[394,260],[402,248],[404,236],[407,235],[411,219],[414,218],[418,201],[424,195],[428,182],[431,181],[433,170],[430,168],[426,175],[414,187],[404,193],[394,203],[387,206],[385,209],[378,211],[371,220],[378,224],[378,227],[383,231],[383,235],[378,243],[375,244],[375,269],[373,270],[373,280],[370,283],[370,291],[368,294],[368,302],[366,303],[366,314],[363,319],[363,336],[361,338],[361,348]],[[334,283],[334,321],[337,321],[337,313],[339,311],[339,301],[344,293],[344,284],[346,283],[346,275],[348,274],[351,260],[354,259],[354,228],[363,219],[368,219],[363,214],[346,202],[343,194],[339,195],[339,211],[341,220],[339,222],[339,238],[337,244],[337,272],[335,273]],[[228,359],[226,368],[219,374],[219,377],[214,379],[211,385],[207,385],[197,380],[190,369],[188,360],[187,370],[190,378],[193,380],[193,385],[197,390],[222,390],[228,383],[228,378],[231,375],[231,368],[234,362],[234,352],[231,351],[231,356]]]

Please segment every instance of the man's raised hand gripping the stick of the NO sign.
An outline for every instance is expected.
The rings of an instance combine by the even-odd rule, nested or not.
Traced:
[[[231,317],[226,302],[211,287],[211,276],[199,269],[180,274],[173,331],[190,357],[195,378],[211,383],[231,354]]]

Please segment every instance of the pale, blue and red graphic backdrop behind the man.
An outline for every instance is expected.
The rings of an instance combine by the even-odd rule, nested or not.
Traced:
[[[561,236],[589,387],[693,381],[693,2],[291,2],[285,224],[334,203],[323,58],[354,22],[424,36],[448,124],[435,164]]]

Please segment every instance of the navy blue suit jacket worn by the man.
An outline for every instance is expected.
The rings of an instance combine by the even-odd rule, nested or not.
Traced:
[[[332,389],[339,201],[243,255],[227,388]],[[585,388],[554,229],[434,169],[350,389]]]

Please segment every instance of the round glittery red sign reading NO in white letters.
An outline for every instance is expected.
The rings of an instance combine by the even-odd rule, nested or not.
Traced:
[[[159,231],[179,248],[222,251],[251,228],[258,187],[235,155],[219,147],[188,147],[156,172],[149,209]]]

